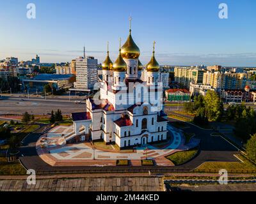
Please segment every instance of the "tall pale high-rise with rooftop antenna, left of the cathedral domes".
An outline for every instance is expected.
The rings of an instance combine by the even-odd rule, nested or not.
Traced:
[[[76,89],[89,90],[97,82],[97,59],[79,57],[76,59]]]

